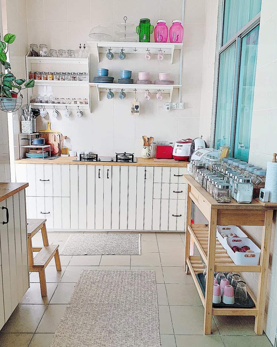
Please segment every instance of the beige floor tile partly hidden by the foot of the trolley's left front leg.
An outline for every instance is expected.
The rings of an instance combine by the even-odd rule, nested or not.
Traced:
[[[203,335],[204,308],[202,306],[170,306],[175,335]],[[219,335],[212,318],[212,332]]]

